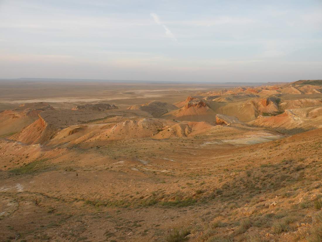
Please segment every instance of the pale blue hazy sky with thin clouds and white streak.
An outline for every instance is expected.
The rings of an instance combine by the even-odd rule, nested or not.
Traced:
[[[322,1],[0,0],[0,78],[322,79]]]

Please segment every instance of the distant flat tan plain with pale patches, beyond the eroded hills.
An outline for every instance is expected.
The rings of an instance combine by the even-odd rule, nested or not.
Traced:
[[[118,81],[83,79],[1,79],[0,111],[22,103],[55,103],[69,108],[79,103],[109,102],[118,106],[147,103],[151,100],[174,103],[198,92],[234,86],[259,86],[262,83],[206,83]],[[57,104],[59,104],[57,106]]]

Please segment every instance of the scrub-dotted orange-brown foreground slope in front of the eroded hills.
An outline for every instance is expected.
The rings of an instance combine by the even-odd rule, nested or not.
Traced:
[[[321,135],[208,148],[184,139],[148,152],[145,140],[40,150],[38,161],[0,174],[1,237],[171,241],[178,228],[190,241],[307,241],[322,222]]]

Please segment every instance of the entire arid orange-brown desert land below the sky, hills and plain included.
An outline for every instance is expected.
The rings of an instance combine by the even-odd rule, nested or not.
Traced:
[[[0,80],[0,241],[319,242],[321,145],[322,80]]]

